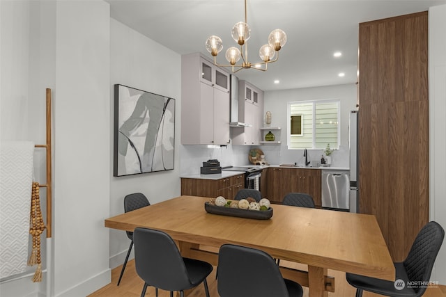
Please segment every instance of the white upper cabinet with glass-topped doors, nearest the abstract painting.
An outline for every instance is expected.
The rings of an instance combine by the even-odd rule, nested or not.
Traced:
[[[229,73],[199,53],[181,57],[181,143],[227,145]]]

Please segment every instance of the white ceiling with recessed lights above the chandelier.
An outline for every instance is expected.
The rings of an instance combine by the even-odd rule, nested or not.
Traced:
[[[189,54],[205,49],[206,39],[218,35],[224,49],[217,61],[226,63],[224,51],[236,46],[231,29],[244,21],[243,0],[106,0],[111,15],[148,38]],[[263,90],[354,83],[357,71],[358,24],[428,10],[446,0],[248,0],[251,28],[249,61],[259,61],[259,48],[274,29],[286,32],[288,41],[279,61],[267,72],[241,70],[236,75]],[[334,58],[341,51],[341,58]],[[150,53],[148,53],[150,54]],[[156,57],[153,57],[156,58]],[[345,77],[338,77],[344,72]],[[273,81],[279,79],[275,85]]]

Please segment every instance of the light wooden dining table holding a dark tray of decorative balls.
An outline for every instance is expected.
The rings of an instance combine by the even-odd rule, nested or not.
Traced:
[[[375,216],[272,204],[268,220],[209,214],[210,198],[183,195],[105,220],[105,227],[167,232],[183,257],[217,265],[218,255],[203,249],[224,243],[249,246],[272,257],[308,265],[308,271],[280,267],[284,278],[309,288],[309,297],[334,291],[328,269],[394,280],[389,250]]]

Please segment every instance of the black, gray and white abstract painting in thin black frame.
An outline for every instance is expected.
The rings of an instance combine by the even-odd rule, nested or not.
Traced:
[[[114,176],[174,169],[175,99],[114,85]]]

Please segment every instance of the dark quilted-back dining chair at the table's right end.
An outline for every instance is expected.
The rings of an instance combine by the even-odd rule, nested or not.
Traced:
[[[426,291],[433,263],[445,237],[445,230],[431,221],[422,227],[403,262],[394,263],[395,282],[346,273],[349,284],[356,288],[356,297],[362,291],[384,296],[420,297]]]

